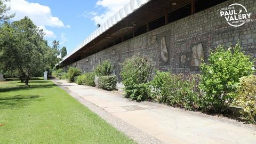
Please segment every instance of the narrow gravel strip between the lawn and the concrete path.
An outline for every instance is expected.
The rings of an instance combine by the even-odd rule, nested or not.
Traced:
[[[60,83],[58,83],[54,80],[52,80],[52,82],[54,84],[58,85],[59,87],[61,87],[61,89],[68,92],[73,98],[75,98],[77,101],[81,102],[84,106],[89,108],[95,114],[99,115],[102,119],[105,119],[105,121],[107,121],[109,124],[114,126],[117,130],[125,133],[128,137],[133,139],[135,142],[145,143],[145,144],[164,143],[164,142],[156,139],[155,137],[153,137],[145,132],[142,132],[141,130],[137,129],[136,127],[122,121],[121,119],[117,118],[116,116],[108,113],[106,110],[103,110],[102,108],[100,108],[98,106],[95,106],[93,103],[85,100],[84,98],[80,97],[76,93],[73,93],[70,90],[68,90],[67,87],[61,86]]]

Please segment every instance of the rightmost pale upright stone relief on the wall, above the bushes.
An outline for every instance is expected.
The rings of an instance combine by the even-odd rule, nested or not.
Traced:
[[[191,66],[199,67],[200,64],[203,62],[204,59],[204,50],[202,43],[199,43],[198,45],[194,45],[192,47],[192,60],[191,60]]]

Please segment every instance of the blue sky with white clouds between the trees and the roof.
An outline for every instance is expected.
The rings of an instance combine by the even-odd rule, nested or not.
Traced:
[[[56,39],[67,52],[75,50],[98,23],[105,22],[130,0],[11,0],[12,21],[27,16],[44,30],[44,38],[52,45]]]

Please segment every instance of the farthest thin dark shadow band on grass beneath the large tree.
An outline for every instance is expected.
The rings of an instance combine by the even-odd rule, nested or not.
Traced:
[[[12,86],[12,87],[3,87],[0,88],[0,92],[13,92],[13,91],[21,91],[21,90],[32,90],[32,89],[49,89],[53,86],[56,86],[54,84],[43,84],[43,85],[18,85],[18,86]]]

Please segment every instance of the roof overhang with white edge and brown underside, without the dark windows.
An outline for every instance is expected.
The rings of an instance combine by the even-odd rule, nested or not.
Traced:
[[[64,67],[79,59],[99,52],[104,45],[114,41],[115,38],[122,36],[127,31],[134,29],[134,27],[144,25],[147,21],[153,20],[171,9],[177,9],[177,7],[189,1],[191,0],[179,0],[177,5],[172,5],[172,3],[176,3],[177,1],[131,0],[129,4],[125,5],[90,36],[85,38],[57,66]]]

